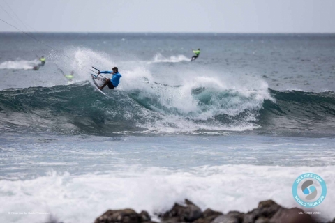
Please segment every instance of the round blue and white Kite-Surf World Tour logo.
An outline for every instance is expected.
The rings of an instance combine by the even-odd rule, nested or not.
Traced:
[[[327,186],[318,174],[301,174],[293,183],[292,194],[299,205],[312,208],[325,200]]]

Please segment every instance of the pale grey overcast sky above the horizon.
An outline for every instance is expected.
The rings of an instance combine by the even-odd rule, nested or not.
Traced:
[[[0,0],[0,19],[45,32],[335,33],[335,1]]]

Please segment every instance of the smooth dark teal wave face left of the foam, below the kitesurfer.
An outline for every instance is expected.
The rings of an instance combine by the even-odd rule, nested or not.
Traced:
[[[133,130],[133,120],[140,121],[143,116],[134,113],[136,106],[129,107],[127,100],[104,98],[87,82],[1,91],[0,98],[1,127],[6,129],[113,132]],[[130,120],[127,114],[131,114]]]

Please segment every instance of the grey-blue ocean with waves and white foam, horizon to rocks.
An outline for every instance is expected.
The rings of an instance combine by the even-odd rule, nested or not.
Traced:
[[[0,222],[154,215],[185,198],[302,208],[304,173],[327,184],[304,210],[335,217],[334,34],[29,35],[0,33]],[[119,68],[107,97],[92,66]]]

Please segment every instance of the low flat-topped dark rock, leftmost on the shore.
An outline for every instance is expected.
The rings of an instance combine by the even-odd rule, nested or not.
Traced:
[[[133,209],[107,210],[103,215],[98,217],[94,223],[141,223],[149,222],[150,216],[146,211],[137,214]]]

